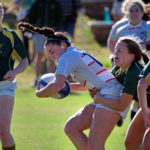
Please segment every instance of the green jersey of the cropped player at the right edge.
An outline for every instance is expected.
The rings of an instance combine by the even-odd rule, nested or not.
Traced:
[[[144,78],[149,85],[147,88],[147,104],[148,104],[148,107],[150,108],[150,61],[143,68],[139,77]]]

